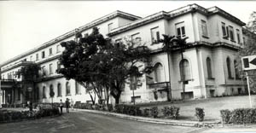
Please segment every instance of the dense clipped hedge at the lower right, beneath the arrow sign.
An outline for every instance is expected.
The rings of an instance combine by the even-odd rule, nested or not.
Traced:
[[[220,116],[224,124],[256,124],[256,108],[224,109]]]

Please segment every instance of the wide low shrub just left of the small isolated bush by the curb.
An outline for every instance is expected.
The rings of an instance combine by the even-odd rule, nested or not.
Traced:
[[[179,116],[179,107],[164,107],[162,109],[164,116],[168,119],[177,119]]]

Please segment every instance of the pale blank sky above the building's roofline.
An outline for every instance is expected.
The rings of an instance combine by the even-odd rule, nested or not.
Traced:
[[[141,17],[197,3],[247,23],[256,1],[0,1],[0,64],[115,10]]]

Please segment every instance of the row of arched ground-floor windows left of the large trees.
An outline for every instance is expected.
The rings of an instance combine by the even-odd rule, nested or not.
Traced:
[[[76,89],[75,90],[76,95],[80,95],[81,94],[81,86],[77,82],[76,82],[75,89]],[[69,82],[66,82],[65,90],[66,90],[66,95],[71,95],[70,83]],[[55,92],[53,84],[49,85],[49,92],[51,92],[51,91]],[[46,98],[46,95],[47,95],[46,87],[43,86],[43,98]],[[55,94],[55,95],[62,96],[62,86],[61,86],[61,83],[57,84],[57,94]]]

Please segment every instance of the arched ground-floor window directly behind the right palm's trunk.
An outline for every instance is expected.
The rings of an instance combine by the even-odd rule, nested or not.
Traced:
[[[180,68],[180,76],[182,81],[190,80],[191,73],[190,73],[189,61],[186,59],[183,59],[183,61],[180,61],[179,68]]]

